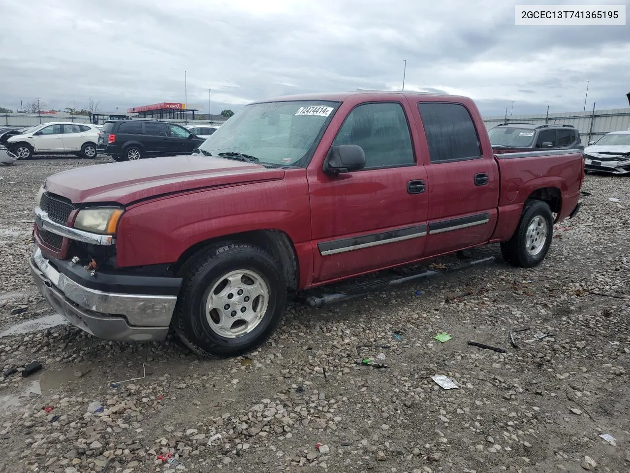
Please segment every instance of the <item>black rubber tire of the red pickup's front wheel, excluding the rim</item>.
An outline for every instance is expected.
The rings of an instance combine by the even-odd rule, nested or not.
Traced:
[[[257,322],[251,331],[232,338],[224,337],[210,326],[209,318],[212,319],[212,315],[206,314],[207,299],[216,284],[221,287],[227,275],[232,271],[241,270],[255,273],[266,284],[268,288],[266,310],[262,312],[260,322]],[[193,255],[179,273],[184,280],[171,327],[187,347],[201,356],[225,358],[247,353],[263,344],[282,320],[287,303],[287,283],[278,263],[272,255],[261,248],[243,243],[211,247]],[[235,290],[238,291],[238,288]],[[234,301],[234,307],[227,310],[241,307],[236,303],[243,304],[236,300],[236,292],[234,294],[234,299],[229,297],[231,294],[227,294],[225,298],[218,298],[223,302],[226,302],[226,298]],[[245,297],[244,301],[247,299]],[[256,299],[257,297],[251,300],[252,308]],[[261,303],[261,300],[258,300],[258,303]],[[243,304],[240,310],[244,308],[246,307]],[[231,314],[234,313],[237,313],[236,310],[231,311]],[[217,315],[218,312],[214,314]],[[227,315],[219,317],[224,317],[229,322]],[[238,323],[239,320],[236,320],[234,325]]]

